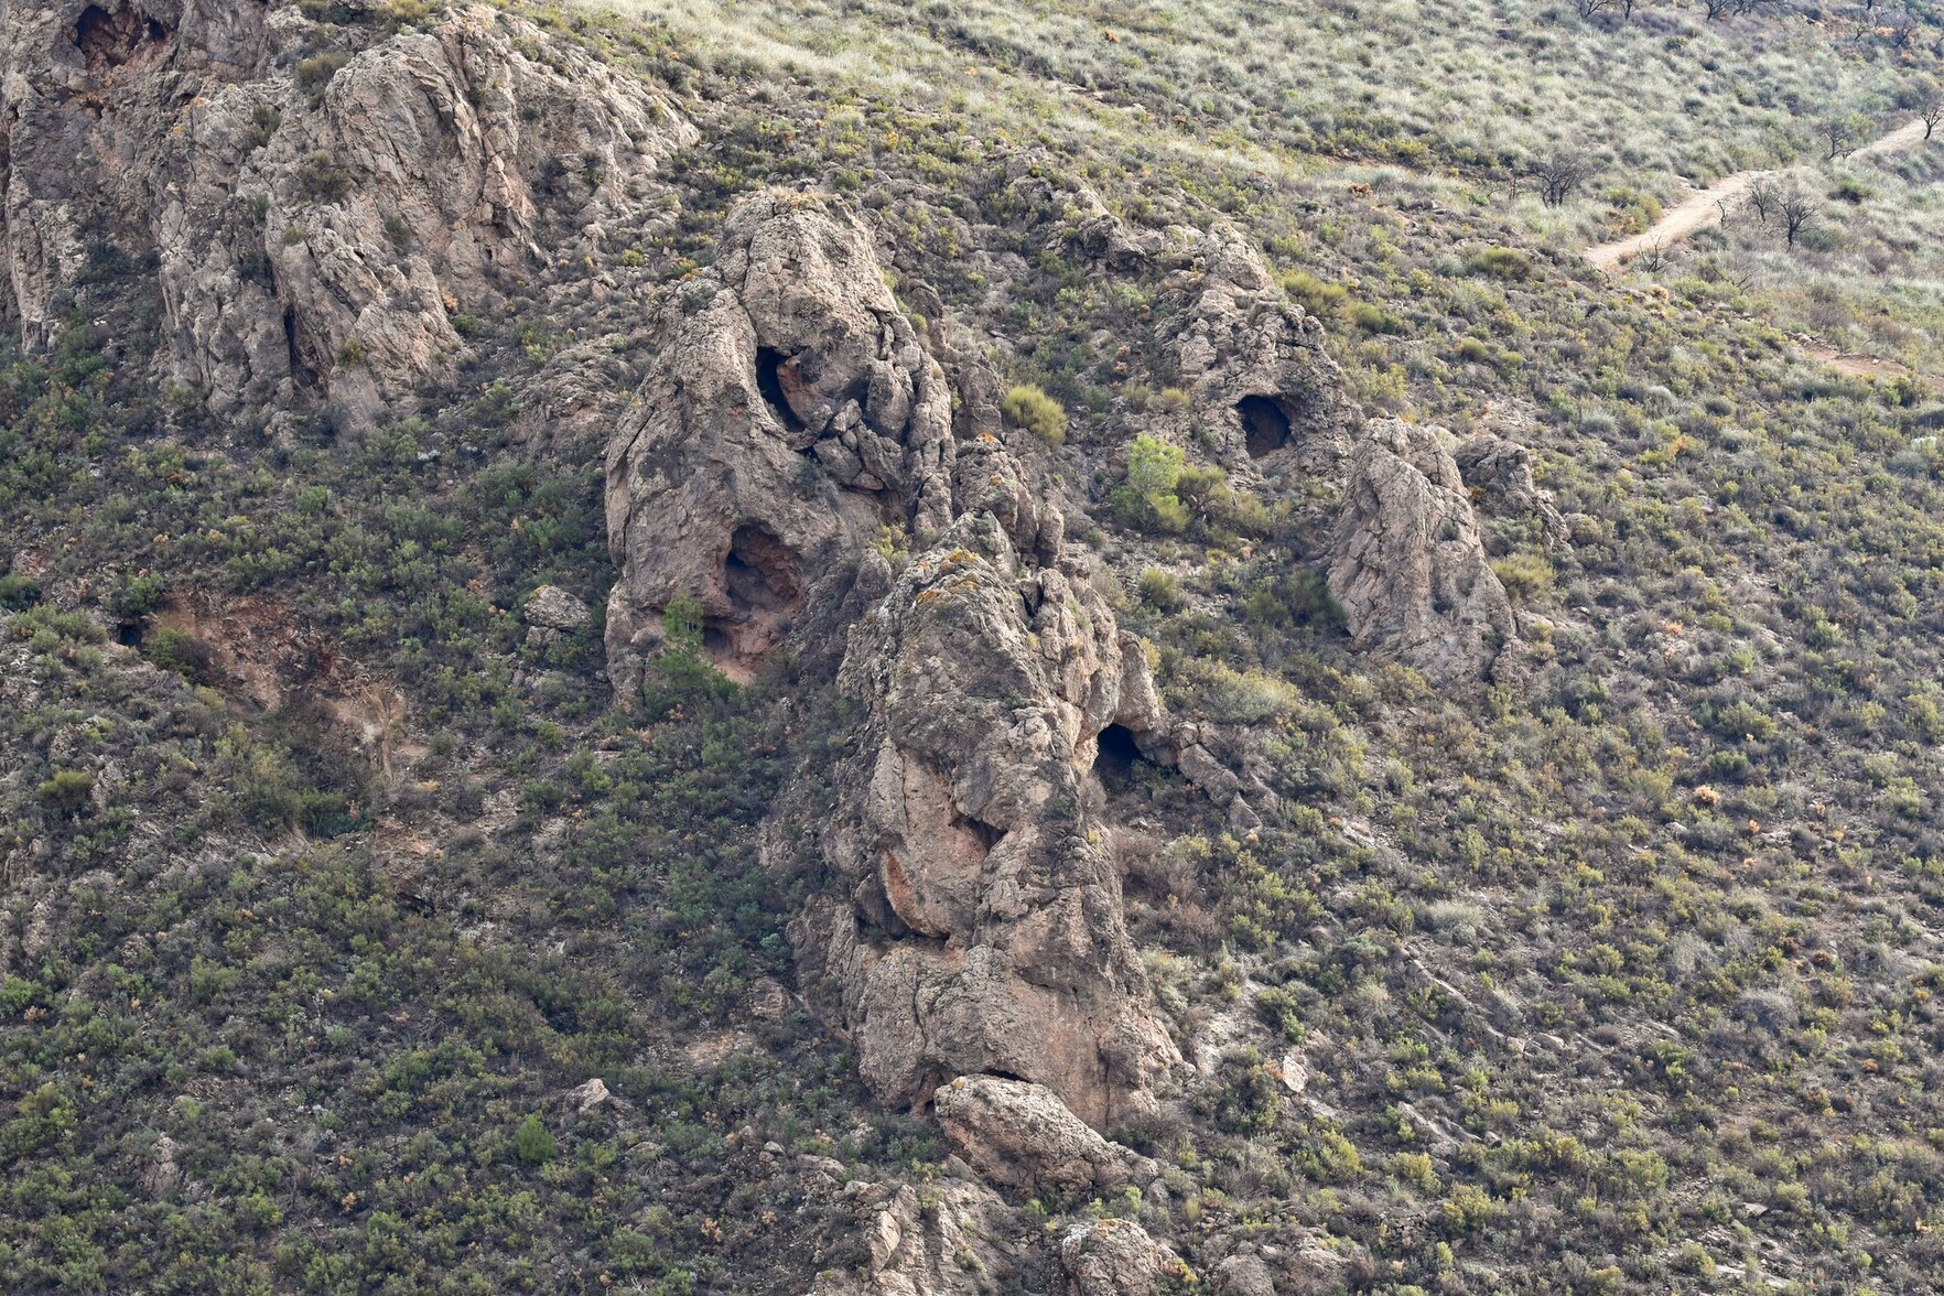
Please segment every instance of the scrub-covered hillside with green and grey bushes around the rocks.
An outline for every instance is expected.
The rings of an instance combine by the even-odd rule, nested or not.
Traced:
[[[1256,49],[1219,31],[1234,12],[1178,6],[1157,74],[1176,89],[1129,70],[1120,89],[1096,82],[1106,105],[1087,115],[1056,78],[1159,43],[1159,10],[1133,23],[1116,6],[1118,43],[1075,6],[1038,6],[1036,29],[997,6],[581,25],[680,85],[708,136],[677,177],[680,223],[610,272],[682,274],[756,183],[851,188],[904,274],[1009,334],[1019,377],[1067,402],[1056,466],[1073,482],[1098,468],[1104,494],[1126,414],[1170,375],[1145,348],[1116,373],[1098,336],[1170,309],[1166,276],[1042,251],[1058,212],[1017,210],[1001,183],[1030,153],[1133,222],[1258,237],[1310,276],[1289,284],[1330,311],[1372,406],[1460,429],[1526,412],[1520,437],[1575,527],[1571,562],[1503,529],[1522,600],[1553,628],[1530,690],[1439,698],[1349,655],[1299,579],[1320,544],[1301,507],[1267,536],[1149,534],[1098,509],[1126,587],[1166,569],[1188,600],[1126,608],[1170,698],[1254,721],[1291,806],[1238,841],[1168,779],[1116,801],[1147,824],[1126,849],[1163,1001],[1238,1045],[1180,1123],[1126,1131],[1182,1166],[1149,1224],[1198,1261],[1203,1236],[1320,1230],[1359,1255],[1359,1282],[1392,1290],[1705,1290],[1761,1273],[1921,1290],[1944,1263],[1944,488],[1907,449],[1913,410],[1806,365],[1732,284],[1610,290],[1536,245],[1532,212],[1466,200],[1474,181],[1398,169],[1347,192],[1301,152],[1314,144],[1275,134],[1301,119],[1314,140],[1318,117],[1250,117],[1217,76],[1225,43]],[[947,19],[968,33],[933,35]],[[824,49],[727,58],[750,29]],[[1876,76],[1823,72],[1818,49],[1798,51],[1808,72],[1769,58],[1775,93]],[[1355,60],[1310,51],[1293,35],[1252,78],[1341,99],[1324,78]],[[832,76],[892,54],[953,89]],[[1198,76],[1207,103],[1180,93]],[[1479,105],[1507,82],[1460,105],[1485,136]],[[1396,99],[1431,113],[1423,93]],[[1761,138],[1759,113],[1734,113]],[[1643,187],[1680,157],[1676,119],[1643,146]],[[1411,138],[1343,148],[1394,165],[1390,142]],[[1452,140],[1435,146],[1470,165]],[[1474,256],[1497,245],[1524,251]],[[1026,258],[1007,301],[986,299],[972,247]],[[142,278],[105,276],[130,311],[119,338],[154,309]],[[599,602],[610,579],[599,447],[538,455],[503,396],[480,394],[544,361],[546,330],[529,354],[519,323],[480,340],[437,418],[362,447],[264,447],[171,414],[86,328],[54,358],[10,358],[0,530],[39,565],[37,589],[8,591],[19,773],[0,787],[0,907],[23,940],[0,985],[14,1286],[558,1290],[605,1273],[787,1290],[818,1245],[813,1263],[848,1259],[848,1220],[752,1189],[764,1170],[727,1133],[746,1123],[859,1174],[939,1156],[923,1125],[869,1113],[809,1022],[746,1008],[756,977],[787,975],[793,886],[754,870],[748,824],[842,731],[815,690],[770,717],[770,694],[677,670],[682,705],[628,729],[603,715],[593,633],[535,649],[500,612],[540,581]],[[315,717],[198,692],[167,641],[150,663],[99,641],[91,624],[171,589],[282,600],[406,690],[428,756],[385,785]],[[43,595],[86,616],[27,610]],[[93,771],[107,804],[43,791],[60,769]],[[698,1038],[723,1055],[690,1051]],[[1285,1049],[1308,1098],[1267,1071]],[[564,1108],[589,1074],[634,1111]],[[529,1115],[552,1148],[521,1137]],[[183,1181],[150,1195],[161,1135]]]

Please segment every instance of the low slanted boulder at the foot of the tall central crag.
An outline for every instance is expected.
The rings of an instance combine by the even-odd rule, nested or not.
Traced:
[[[1044,1084],[958,1076],[931,1104],[974,1170],[1024,1193],[1106,1189],[1161,1174],[1151,1158],[1096,1135]]]

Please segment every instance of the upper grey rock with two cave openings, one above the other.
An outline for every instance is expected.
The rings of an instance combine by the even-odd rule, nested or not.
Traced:
[[[951,521],[951,392],[855,218],[805,194],[745,198],[657,328],[655,371],[608,447],[622,696],[677,597],[700,602],[717,661],[746,670],[793,639],[807,602],[842,598],[809,595],[881,529]]]

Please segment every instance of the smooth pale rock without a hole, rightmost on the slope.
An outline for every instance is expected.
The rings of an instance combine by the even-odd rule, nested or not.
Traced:
[[[1442,427],[1369,424],[1330,560],[1355,645],[1435,680],[1489,674],[1516,633],[1448,443]]]

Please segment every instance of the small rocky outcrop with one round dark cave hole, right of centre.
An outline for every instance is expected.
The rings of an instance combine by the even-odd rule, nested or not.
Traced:
[[[1287,301],[1254,245],[1231,231],[1209,233],[1196,266],[1168,340],[1192,418],[1231,466],[1337,474],[1363,414],[1324,350],[1322,321]]]

